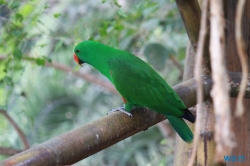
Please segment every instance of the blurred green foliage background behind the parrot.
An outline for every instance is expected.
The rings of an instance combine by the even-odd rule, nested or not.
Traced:
[[[95,82],[46,65],[57,62],[109,83],[73,61],[74,46],[88,39],[139,56],[170,85],[181,81],[188,39],[174,0],[0,0],[0,109],[30,146],[123,104]],[[24,149],[2,114],[0,147]],[[75,165],[171,165],[173,153],[174,137],[155,126]],[[0,154],[0,161],[7,157]]]

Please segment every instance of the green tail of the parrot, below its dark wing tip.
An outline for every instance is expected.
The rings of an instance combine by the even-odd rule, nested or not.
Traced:
[[[188,125],[181,117],[167,116],[170,124],[179,134],[179,136],[187,143],[191,143],[193,140],[193,133],[189,129]]]

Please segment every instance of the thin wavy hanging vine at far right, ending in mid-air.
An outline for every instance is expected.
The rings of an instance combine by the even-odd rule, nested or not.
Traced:
[[[235,112],[236,116],[242,116],[244,113],[243,98],[247,86],[247,77],[248,77],[247,54],[245,51],[245,42],[242,37],[242,31],[241,31],[241,20],[243,15],[244,4],[245,0],[238,1],[236,17],[235,17],[235,40],[242,67],[242,80],[236,103],[236,112]]]

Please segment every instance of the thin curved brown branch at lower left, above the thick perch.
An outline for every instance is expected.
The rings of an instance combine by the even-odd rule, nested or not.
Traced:
[[[12,126],[15,128],[15,130],[17,131],[21,141],[23,142],[24,145],[24,149],[29,149],[29,143],[26,139],[25,134],[23,133],[23,131],[20,129],[20,127],[16,124],[16,122],[9,116],[9,114],[7,113],[7,111],[5,110],[0,110],[0,113],[3,114],[8,121],[10,122],[10,124],[12,124]]]

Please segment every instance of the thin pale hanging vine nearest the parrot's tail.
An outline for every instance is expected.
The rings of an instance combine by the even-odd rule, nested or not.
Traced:
[[[201,16],[201,28],[199,32],[198,48],[196,53],[196,64],[195,64],[195,79],[197,81],[197,113],[196,113],[196,124],[195,124],[195,134],[194,143],[191,158],[188,162],[188,166],[192,166],[195,160],[196,151],[199,143],[199,133],[201,129],[202,122],[202,100],[203,100],[203,88],[201,80],[201,66],[203,58],[204,44],[207,34],[207,11],[208,11],[208,0],[204,0],[202,4],[202,16]]]

